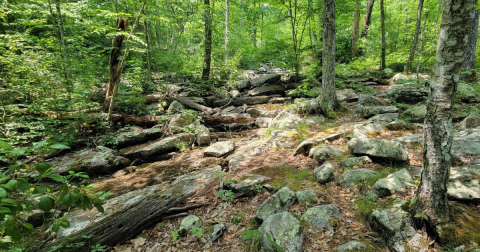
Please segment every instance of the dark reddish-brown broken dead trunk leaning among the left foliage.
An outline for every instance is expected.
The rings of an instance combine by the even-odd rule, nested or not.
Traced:
[[[128,18],[118,18],[117,31],[126,32],[128,26]],[[107,110],[110,104],[110,99],[113,96],[113,87],[117,80],[120,79],[120,50],[122,49],[122,43],[125,39],[125,35],[118,35],[112,39],[112,51],[110,52],[110,81],[107,86],[107,94],[105,96],[105,102],[103,103],[103,109]]]

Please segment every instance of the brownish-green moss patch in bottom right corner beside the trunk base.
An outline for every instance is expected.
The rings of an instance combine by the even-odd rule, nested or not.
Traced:
[[[477,247],[480,244],[480,213],[476,206],[452,202],[451,215],[452,222],[440,226],[440,244],[448,248]]]

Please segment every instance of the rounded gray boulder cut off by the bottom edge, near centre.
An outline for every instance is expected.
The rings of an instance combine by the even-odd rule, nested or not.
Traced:
[[[262,233],[260,243],[265,252],[278,251],[273,244],[280,246],[285,252],[301,252],[303,250],[302,225],[289,212],[270,215],[258,231]]]

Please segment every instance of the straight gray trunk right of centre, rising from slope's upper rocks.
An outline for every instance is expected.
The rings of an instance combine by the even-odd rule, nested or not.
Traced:
[[[335,91],[335,0],[323,1],[322,109],[326,115],[337,109]]]

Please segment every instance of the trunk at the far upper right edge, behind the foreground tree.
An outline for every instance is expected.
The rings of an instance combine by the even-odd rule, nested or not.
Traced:
[[[478,0],[475,0],[475,6],[477,6]],[[477,36],[478,36],[478,10],[475,10],[473,14],[470,14],[470,24],[468,27],[468,42],[465,48],[465,60],[463,61],[462,71],[474,71],[475,70],[475,53],[477,49]],[[472,72],[466,78],[466,81],[472,82],[475,80],[475,73]]]

